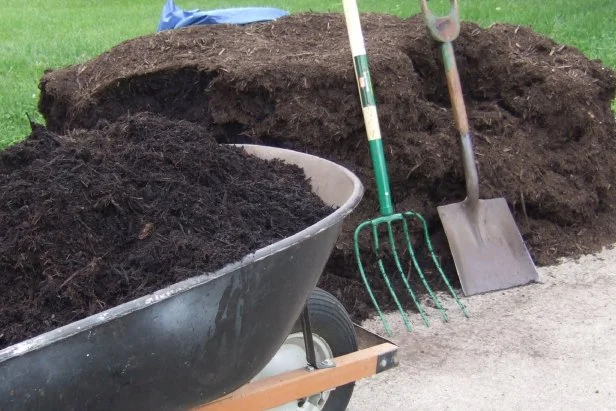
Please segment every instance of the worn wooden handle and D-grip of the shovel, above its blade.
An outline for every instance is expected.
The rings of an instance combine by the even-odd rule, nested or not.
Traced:
[[[445,75],[447,76],[447,88],[449,89],[449,96],[452,101],[456,127],[460,133],[467,198],[469,205],[474,207],[479,202],[479,179],[477,177],[477,168],[475,167],[475,156],[473,154],[466,108],[462,98],[462,85],[460,84],[458,66],[456,65],[453,46],[451,45],[451,42],[460,34],[458,1],[451,0],[449,15],[445,17],[435,16],[428,8],[427,0],[421,0],[421,9],[432,37],[441,43],[441,54],[443,55]]]

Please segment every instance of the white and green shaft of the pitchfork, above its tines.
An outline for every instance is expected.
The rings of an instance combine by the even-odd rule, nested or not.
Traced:
[[[368,69],[368,57],[366,56],[364,35],[359,20],[359,10],[357,9],[357,2],[355,0],[343,0],[342,6],[344,7],[351,52],[353,54],[353,66],[355,67],[355,78],[357,79],[359,98],[364,114],[368,144],[370,145],[370,155],[372,157],[376,188],[379,196],[380,212],[381,215],[388,216],[394,213],[394,206],[389,188],[389,178],[387,177],[387,163],[385,162],[385,154],[383,151],[383,140],[381,139],[381,128],[379,126],[374,89]]]

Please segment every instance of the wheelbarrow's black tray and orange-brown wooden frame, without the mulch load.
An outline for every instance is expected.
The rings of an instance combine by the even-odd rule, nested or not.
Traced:
[[[323,392],[396,365],[395,345],[352,323],[357,349],[324,359],[327,344],[315,342],[319,331],[309,328],[323,311],[313,315],[311,295],[343,220],[363,195],[359,179],[312,155],[243,147],[302,167],[335,211],[219,271],[1,350],[0,409],[246,411],[289,401],[297,409],[324,409]],[[304,366],[263,374],[298,324]],[[315,393],[321,393],[320,405],[303,407]]]

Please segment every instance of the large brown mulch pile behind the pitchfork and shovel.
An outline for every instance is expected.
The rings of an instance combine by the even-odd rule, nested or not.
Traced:
[[[395,205],[425,216],[455,284],[436,207],[464,199],[465,185],[438,45],[419,16],[370,14],[362,24]],[[464,23],[454,50],[481,198],[506,198],[539,265],[614,243],[615,73],[573,47],[507,24]],[[293,148],[349,167],[367,193],[321,285],[355,318],[370,312],[352,232],[378,214],[378,204],[341,15],[156,33],[50,71],[40,87],[40,111],[59,133],[151,111],[200,124],[219,142]],[[362,250],[370,255],[369,243]],[[442,288],[432,266],[426,269]],[[384,288],[375,287],[391,308]]]

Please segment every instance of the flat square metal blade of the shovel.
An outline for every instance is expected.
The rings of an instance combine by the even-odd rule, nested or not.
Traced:
[[[437,207],[466,296],[537,281],[538,274],[504,198]]]

